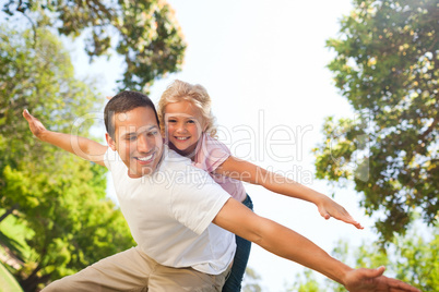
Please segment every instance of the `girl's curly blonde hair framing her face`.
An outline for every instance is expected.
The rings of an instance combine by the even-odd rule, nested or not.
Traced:
[[[205,133],[211,137],[216,137],[215,117],[212,114],[212,100],[207,90],[199,84],[190,84],[179,80],[174,81],[168,85],[158,100],[157,113],[162,131],[165,131],[165,108],[168,104],[187,100],[195,106],[205,123]]]

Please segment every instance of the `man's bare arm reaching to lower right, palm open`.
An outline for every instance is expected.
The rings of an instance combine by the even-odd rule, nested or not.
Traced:
[[[353,269],[336,260],[315,243],[274,221],[260,217],[234,198],[227,200],[213,223],[264,250],[323,273],[348,291],[419,292],[396,279],[382,276],[384,268]]]

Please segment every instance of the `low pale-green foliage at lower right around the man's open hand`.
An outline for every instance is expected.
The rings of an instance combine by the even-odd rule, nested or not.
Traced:
[[[376,243],[365,242],[359,248],[348,247],[346,241],[340,241],[332,254],[344,263],[356,267],[378,267],[384,265],[385,273],[411,283],[420,291],[437,291],[439,287],[439,226],[429,228],[425,233],[417,233],[414,226],[405,236],[396,235],[388,248]],[[352,251],[356,252],[352,252]],[[289,291],[332,291],[345,289],[329,279],[319,282],[313,272],[305,269],[296,275],[296,281]],[[304,280],[302,280],[304,279]]]

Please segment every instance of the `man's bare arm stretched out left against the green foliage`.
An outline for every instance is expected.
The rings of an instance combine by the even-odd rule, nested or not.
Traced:
[[[88,161],[105,167],[104,155],[108,146],[88,138],[49,131],[27,110],[23,110],[23,117],[28,122],[32,133],[40,141],[50,143]]]

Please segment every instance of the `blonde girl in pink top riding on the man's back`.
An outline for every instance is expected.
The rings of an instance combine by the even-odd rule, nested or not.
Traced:
[[[334,217],[363,229],[342,206],[328,196],[233,157],[229,149],[215,139],[216,129],[211,112],[211,98],[201,85],[175,81],[163,93],[157,112],[165,142],[169,147],[189,157],[195,167],[207,171],[215,182],[250,209],[253,209],[253,205],[241,181],[311,202],[325,219]],[[236,255],[230,276],[223,288],[224,292],[240,291],[250,255],[250,242],[236,236]]]

